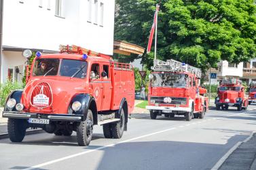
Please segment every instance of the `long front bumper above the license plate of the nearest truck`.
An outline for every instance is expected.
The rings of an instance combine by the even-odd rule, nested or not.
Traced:
[[[50,121],[84,121],[81,114],[42,114],[31,112],[3,111],[3,117],[13,119],[49,119]]]

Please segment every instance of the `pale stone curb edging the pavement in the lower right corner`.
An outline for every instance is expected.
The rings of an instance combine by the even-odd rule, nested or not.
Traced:
[[[221,167],[221,165],[227,160],[227,158],[230,156],[230,154],[232,154],[234,152],[234,150],[236,150],[241,144],[248,142],[249,140],[251,140],[251,137],[253,137],[253,134],[256,133],[255,131],[253,131],[251,133],[251,135],[249,137],[247,137],[243,142],[238,142],[236,143],[232,148],[230,148],[230,150],[227,151],[227,153],[225,153],[220,159],[219,161],[213,166],[213,168],[211,170],[217,170]]]

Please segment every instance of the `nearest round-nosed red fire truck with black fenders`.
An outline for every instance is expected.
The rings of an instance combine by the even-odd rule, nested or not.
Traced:
[[[130,64],[75,45],[60,47],[60,54],[37,52],[26,87],[7,98],[10,140],[22,142],[26,129],[39,127],[55,135],[76,131],[79,146],[88,146],[94,125],[103,125],[107,138],[122,137],[134,108]]]

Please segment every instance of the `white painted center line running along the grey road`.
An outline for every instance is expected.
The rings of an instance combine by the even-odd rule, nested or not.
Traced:
[[[242,112],[242,113],[239,113],[239,114],[244,114],[245,112]],[[232,114],[232,115],[229,115],[229,116],[234,116],[234,115],[239,115],[239,114]],[[227,116],[223,116],[223,117],[227,117]],[[197,122],[197,123],[202,123],[202,122]],[[188,125],[191,125],[191,124],[187,124]],[[179,126],[179,127],[184,127],[183,125]],[[48,161],[48,162],[45,162],[45,163],[41,163],[39,165],[34,165],[33,167],[29,167],[29,168],[26,168],[24,170],[31,170],[31,169],[37,169],[37,168],[40,168],[40,167],[44,167],[46,165],[51,165],[51,164],[54,164],[54,163],[58,163],[60,161],[65,161],[69,158],[74,158],[76,156],[81,156],[81,155],[84,155],[84,154],[88,154],[90,152],[94,152],[96,150],[102,150],[102,149],[105,149],[105,148],[109,148],[109,147],[112,147],[112,146],[115,146],[117,144],[123,144],[125,142],[130,142],[130,141],[134,141],[134,140],[139,140],[141,138],[144,138],[144,137],[148,137],[148,136],[151,136],[151,135],[156,135],[156,134],[160,134],[160,133],[164,133],[166,131],[172,131],[174,129],[177,129],[177,127],[172,127],[172,128],[169,128],[169,129],[165,129],[165,130],[162,130],[162,131],[156,131],[156,132],[153,132],[153,133],[149,133],[147,135],[141,135],[139,137],[134,137],[130,140],[124,140],[124,141],[121,141],[121,142],[117,142],[117,143],[114,143],[114,144],[109,144],[107,146],[101,146],[99,148],[96,148],[94,150],[87,150],[87,151],[84,151],[84,152],[79,152],[77,154],[72,154],[72,155],[69,155],[69,156],[65,156],[65,157],[62,157],[62,158],[58,158],[58,159],[55,159],[55,160],[52,160],[52,161]]]

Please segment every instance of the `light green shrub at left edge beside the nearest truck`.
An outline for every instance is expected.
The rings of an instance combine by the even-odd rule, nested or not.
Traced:
[[[7,81],[7,83],[0,84],[0,107],[3,107],[7,96],[15,89],[22,89],[22,84],[12,83]]]

